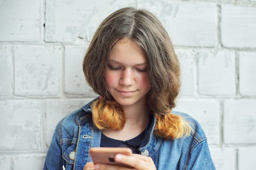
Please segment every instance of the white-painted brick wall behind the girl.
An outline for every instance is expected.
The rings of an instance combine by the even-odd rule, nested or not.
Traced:
[[[96,96],[81,67],[95,29],[125,6],[170,34],[175,110],[200,122],[216,169],[255,170],[256,0],[1,0],[0,169],[42,169],[57,122]]]

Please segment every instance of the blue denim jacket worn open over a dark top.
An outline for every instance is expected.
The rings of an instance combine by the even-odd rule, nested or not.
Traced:
[[[63,118],[56,126],[45,159],[44,170],[83,170],[92,161],[89,149],[99,147],[101,130],[92,123],[90,103]],[[153,134],[155,116],[149,121],[139,151],[151,157],[157,170],[215,170],[207,144],[207,138],[198,122],[185,113],[173,114],[185,117],[193,123],[194,132],[180,139],[162,139]]]

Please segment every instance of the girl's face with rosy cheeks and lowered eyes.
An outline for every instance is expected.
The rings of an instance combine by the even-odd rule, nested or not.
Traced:
[[[122,106],[145,106],[148,82],[148,57],[133,40],[119,40],[108,57],[106,83],[110,95]]]

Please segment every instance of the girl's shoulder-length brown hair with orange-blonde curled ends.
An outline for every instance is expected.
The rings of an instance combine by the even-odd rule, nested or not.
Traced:
[[[103,20],[83,60],[86,81],[102,97],[91,105],[94,125],[101,130],[124,127],[124,111],[108,93],[105,82],[110,50],[124,38],[137,42],[148,57],[147,105],[156,115],[155,135],[165,139],[189,135],[189,123],[171,113],[180,91],[180,64],[173,44],[155,15],[132,7],[119,9]]]

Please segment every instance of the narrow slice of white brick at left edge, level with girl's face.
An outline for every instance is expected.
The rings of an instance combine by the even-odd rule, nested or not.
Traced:
[[[0,96],[13,93],[13,53],[11,47],[0,46]]]

